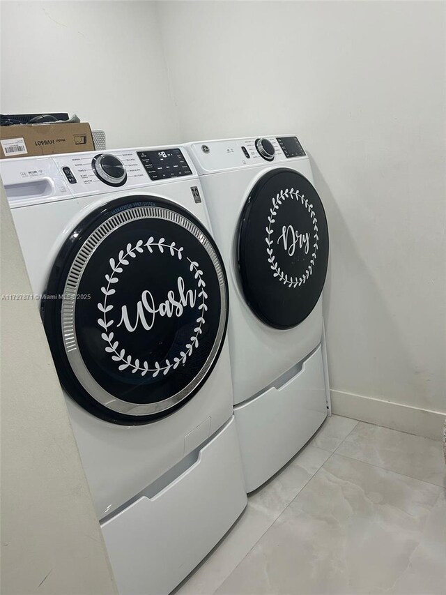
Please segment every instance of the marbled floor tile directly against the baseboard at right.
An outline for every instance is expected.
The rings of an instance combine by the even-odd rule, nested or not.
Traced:
[[[440,440],[360,421],[336,452],[446,487],[446,466]]]

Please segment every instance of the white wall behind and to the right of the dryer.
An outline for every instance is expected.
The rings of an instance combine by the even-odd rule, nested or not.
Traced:
[[[354,393],[445,412],[445,3],[159,11],[183,140],[289,132],[312,157],[334,410]]]

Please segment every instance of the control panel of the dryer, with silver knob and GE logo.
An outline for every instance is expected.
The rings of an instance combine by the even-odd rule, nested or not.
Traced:
[[[295,135],[192,142],[188,149],[200,174],[306,157]]]

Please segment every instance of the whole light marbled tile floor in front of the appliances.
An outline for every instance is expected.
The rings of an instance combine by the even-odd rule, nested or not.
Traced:
[[[440,440],[332,416],[176,595],[446,594]]]

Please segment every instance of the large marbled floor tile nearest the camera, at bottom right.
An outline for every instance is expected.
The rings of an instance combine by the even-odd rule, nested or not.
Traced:
[[[429,524],[435,524],[440,492],[436,485],[334,454],[217,594],[402,592],[411,560],[418,564],[415,572],[433,577],[417,577],[431,589],[422,593],[436,594],[443,586],[444,561],[437,552],[442,536]],[[432,550],[437,555],[428,566]]]

